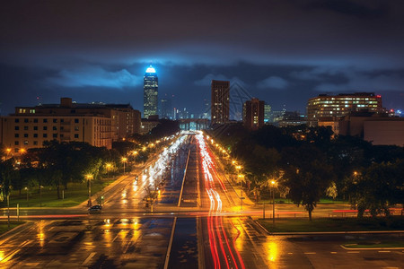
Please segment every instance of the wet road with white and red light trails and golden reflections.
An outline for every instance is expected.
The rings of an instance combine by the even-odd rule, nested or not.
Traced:
[[[35,221],[0,237],[0,267],[402,268],[404,264],[400,249],[340,247],[355,235],[270,236],[250,218],[261,210],[244,205],[241,212],[238,195],[202,137],[184,135],[175,151],[166,153],[110,187],[101,214],[89,215],[84,207],[22,211]],[[162,193],[151,213],[143,201],[145,187],[162,178]],[[290,205],[281,206],[279,213],[295,211]],[[321,213],[333,210],[327,205]]]

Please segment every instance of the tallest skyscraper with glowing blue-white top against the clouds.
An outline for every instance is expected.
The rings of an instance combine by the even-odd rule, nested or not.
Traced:
[[[150,116],[158,115],[158,89],[159,79],[155,73],[155,69],[150,65],[145,72],[144,86],[143,86],[143,117],[148,118]]]

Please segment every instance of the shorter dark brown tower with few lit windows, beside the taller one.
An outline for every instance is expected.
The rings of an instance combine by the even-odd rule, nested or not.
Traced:
[[[265,102],[253,98],[247,100],[242,107],[242,123],[249,130],[258,130],[264,126]]]

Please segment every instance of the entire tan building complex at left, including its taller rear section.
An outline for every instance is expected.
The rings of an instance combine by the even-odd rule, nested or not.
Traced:
[[[17,107],[1,117],[1,143],[19,152],[45,141],[85,142],[111,148],[113,141],[140,130],[140,111],[128,104],[82,104],[62,98],[60,104]]]

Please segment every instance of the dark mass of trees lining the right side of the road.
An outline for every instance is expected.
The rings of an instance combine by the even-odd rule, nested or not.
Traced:
[[[404,148],[372,145],[359,137],[334,136],[329,127],[263,126],[250,132],[241,124],[207,131],[242,163],[250,195],[259,200],[277,190],[312,211],[322,197],[348,200],[363,216],[389,215],[404,203]],[[237,171],[230,166],[229,172]],[[273,186],[272,186],[273,187]]]

